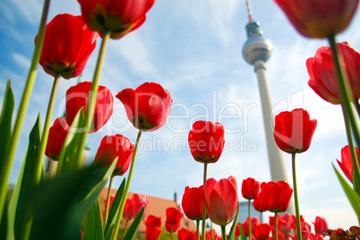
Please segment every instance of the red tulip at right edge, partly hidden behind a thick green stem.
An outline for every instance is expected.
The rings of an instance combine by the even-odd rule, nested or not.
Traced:
[[[339,52],[343,56],[343,67],[347,71],[348,81],[354,99],[360,99],[360,54],[347,42],[338,43]],[[315,56],[306,60],[309,86],[321,99],[332,104],[340,104],[338,76],[332,60],[330,47],[320,47]]]

